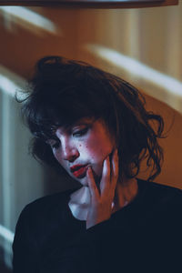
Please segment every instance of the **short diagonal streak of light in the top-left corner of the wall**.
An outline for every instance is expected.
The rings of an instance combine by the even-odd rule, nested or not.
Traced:
[[[35,29],[43,30],[52,34],[61,34],[60,29],[49,19],[43,15],[39,15],[34,11],[23,6],[0,6],[0,12],[5,17],[6,25],[10,25],[11,21],[22,27],[35,32]],[[25,24],[26,23],[26,24]]]

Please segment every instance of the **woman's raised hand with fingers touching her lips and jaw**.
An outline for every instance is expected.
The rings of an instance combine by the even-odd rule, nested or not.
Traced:
[[[91,195],[91,204],[86,218],[86,228],[89,228],[111,217],[112,202],[115,197],[118,178],[117,150],[113,154],[111,163],[109,156],[104,161],[100,190],[96,187],[91,167],[88,167],[86,176]]]

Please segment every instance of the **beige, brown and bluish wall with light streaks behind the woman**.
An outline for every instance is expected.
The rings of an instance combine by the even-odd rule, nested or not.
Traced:
[[[182,188],[182,3],[179,3],[123,10],[29,8],[50,20],[49,25],[45,22],[42,27],[0,9],[0,76],[21,86],[19,76],[29,77],[38,58],[60,55],[81,59],[125,78],[143,90],[148,110],[164,116],[166,130],[174,118],[167,138],[160,141],[165,161],[156,181]],[[12,11],[15,8],[11,7]],[[51,27],[55,30],[51,31]],[[116,58],[113,54],[117,54]],[[136,63],[128,66],[129,57]],[[160,85],[158,76],[163,76]],[[39,167],[27,154],[30,135],[21,125],[19,106],[7,94],[6,87],[1,78],[0,225],[14,231],[25,204],[76,185]],[[0,236],[0,245],[4,242],[7,252],[11,252],[11,242]]]

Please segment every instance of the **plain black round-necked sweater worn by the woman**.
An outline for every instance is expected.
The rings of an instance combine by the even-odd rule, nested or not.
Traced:
[[[15,229],[14,273],[182,272],[182,191],[137,180],[138,194],[86,229],[73,190],[27,205]]]

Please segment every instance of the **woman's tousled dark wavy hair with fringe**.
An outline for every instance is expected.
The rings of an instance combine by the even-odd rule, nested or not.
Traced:
[[[62,168],[46,140],[56,139],[58,126],[95,117],[115,136],[122,174],[136,177],[144,158],[152,167],[148,180],[161,172],[163,150],[157,138],[163,137],[163,118],[147,112],[144,96],[125,80],[84,62],[45,56],[36,63],[26,91],[22,115],[34,135],[31,152],[36,159]]]

